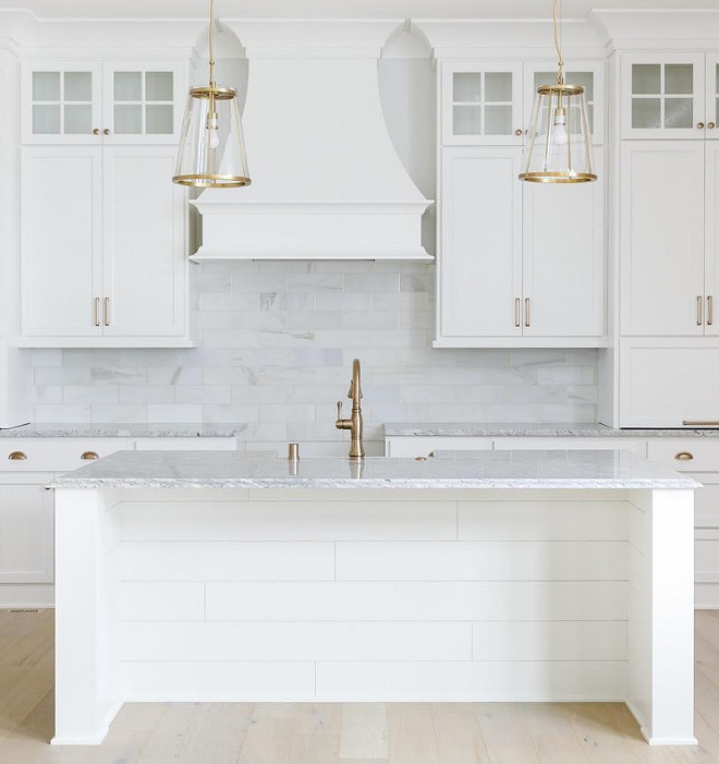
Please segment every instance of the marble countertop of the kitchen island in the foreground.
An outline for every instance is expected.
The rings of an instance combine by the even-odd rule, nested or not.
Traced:
[[[441,459],[249,458],[234,451],[120,451],[52,488],[699,488],[626,451],[477,451]]]

